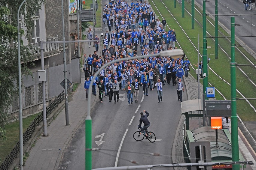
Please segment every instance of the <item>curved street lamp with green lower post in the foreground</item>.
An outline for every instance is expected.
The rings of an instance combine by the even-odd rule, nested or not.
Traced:
[[[172,49],[161,51],[157,54],[150,54],[150,55],[140,55],[131,57],[133,59],[141,59],[145,57],[154,57],[154,56],[181,56],[184,55],[182,49]],[[114,61],[109,62],[108,64],[103,65],[100,69],[95,73],[93,79],[91,80],[89,89],[93,86],[93,81],[95,80],[96,76],[100,73],[101,70],[105,69],[108,65],[114,64],[119,61],[125,61],[127,58],[120,58]],[[91,118],[91,91],[88,91],[88,103],[87,103],[87,117],[85,118],[85,169],[91,170],[92,169],[92,118]]]

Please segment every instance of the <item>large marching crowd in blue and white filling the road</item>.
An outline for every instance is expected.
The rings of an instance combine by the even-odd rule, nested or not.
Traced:
[[[96,96],[98,86],[101,103],[103,96],[108,97],[109,102],[114,96],[114,103],[118,102],[119,90],[124,90],[127,92],[128,105],[133,104],[133,101],[139,100],[139,88],[143,88],[146,96],[148,96],[148,88],[152,91],[156,88],[160,103],[163,86],[166,83],[176,85],[178,100],[182,102],[184,91],[182,78],[188,76],[190,61],[184,56],[180,58],[147,56],[175,49],[176,33],[171,28],[166,31],[166,20],[160,22],[156,19],[150,3],[146,1],[142,3],[142,0],[131,1],[130,4],[124,0],[110,0],[104,5],[103,18],[108,30],[102,37],[104,47],[100,56],[97,54],[99,42],[94,43],[95,51],[92,55],[84,54],[83,70],[86,78],[84,88],[87,100],[93,76],[107,64],[93,81],[91,89],[92,95]],[[99,40],[97,35],[92,37],[90,30],[87,39],[88,37],[90,40]],[[135,59],[134,56],[137,55],[145,55],[145,58]],[[108,64],[118,58],[126,58],[126,60]]]

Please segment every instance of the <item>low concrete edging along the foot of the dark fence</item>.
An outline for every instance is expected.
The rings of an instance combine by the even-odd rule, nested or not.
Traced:
[[[65,107],[65,100],[63,100],[58,107],[56,107],[53,110],[53,113],[50,114],[50,117],[47,118],[47,126],[49,126],[53,119],[64,109]],[[36,141],[38,136],[41,136],[41,134],[44,131],[44,127],[43,127],[43,122],[41,122],[38,127],[35,128],[34,133],[32,133],[31,138],[28,140],[28,142],[26,142],[23,146],[23,155],[25,154],[25,152],[29,152],[30,149],[32,148],[32,144]],[[20,152],[19,152],[20,153]],[[11,166],[8,169],[14,169],[15,166],[18,166],[20,163],[20,157],[17,156],[17,158],[14,159],[13,163],[11,164]],[[26,164],[26,162],[24,163]]]

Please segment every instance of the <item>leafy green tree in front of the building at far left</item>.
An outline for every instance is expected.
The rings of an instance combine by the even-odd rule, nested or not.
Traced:
[[[8,109],[18,91],[18,50],[14,42],[17,41],[17,12],[21,2],[0,0],[0,139],[4,139]],[[26,33],[22,29],[20,33],[25,33],[28,40],[31,38],[35,12],[41,9],[43,3],[44,0],[27,0],[20,10],[21,24],[26,28]],[[33,65],[33,62],[29,62],[31,54],[25,46],[20,49],[22,76],[32,75],[29,70],[29,66]]]

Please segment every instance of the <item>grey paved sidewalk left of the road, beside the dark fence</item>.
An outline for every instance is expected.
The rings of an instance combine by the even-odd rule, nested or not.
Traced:
[[[95,31],[100,35],[101,31]],[[95,48],[89,48],[88,43],[84,43],[84,53],[89,56],[93,54]],[[101,49],[99,49],[100,52]],[[98,55],[99,55],[98,52]],[[56,119],[47,127],[49,136],[41,136],[31,148],[29,157],[23,166],[24,170],[35,169],[58,169],[59,161],[66,146],[84,121],[87,115],[87,103],[84,91],[84,73],[81,73],[81,85],[77,88],[73,100],[69,102],[69,126],[66,126],[65,109],[63,109]],[[92,107],[98,96],[92,97]]]

